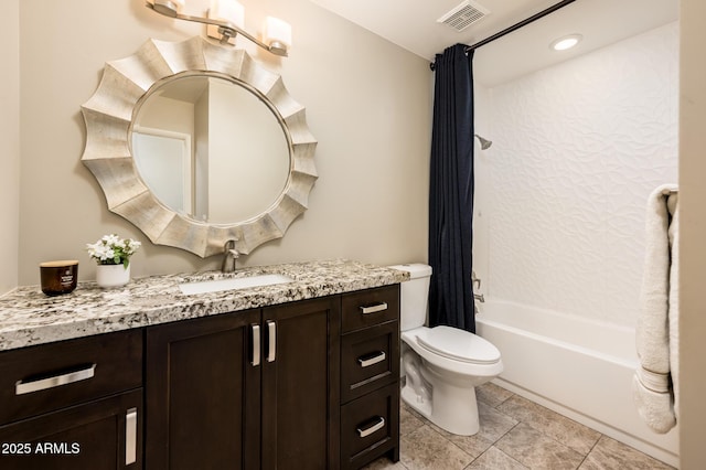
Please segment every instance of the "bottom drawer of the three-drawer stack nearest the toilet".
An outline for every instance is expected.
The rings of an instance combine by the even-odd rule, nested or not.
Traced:
[[[394,448],[399,448],[398,384],[343,405],[342,468],[360,468]]]

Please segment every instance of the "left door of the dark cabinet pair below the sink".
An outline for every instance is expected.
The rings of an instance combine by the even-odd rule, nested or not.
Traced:
[[[259,468],[259,320],[248,310],[147,330],[147,468]]]

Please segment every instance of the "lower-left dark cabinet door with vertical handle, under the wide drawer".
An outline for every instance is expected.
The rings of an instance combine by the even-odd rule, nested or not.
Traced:
[[[0,468],[141,469],[141,388],[0,426]]]

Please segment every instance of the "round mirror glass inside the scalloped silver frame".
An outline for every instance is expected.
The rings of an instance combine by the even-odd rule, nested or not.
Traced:
[[[225,77],[175,75],[154,86],[136,109],[130,143],[154,196],[196,221],[256,217],[289,178],[289,142],[276,114]]]

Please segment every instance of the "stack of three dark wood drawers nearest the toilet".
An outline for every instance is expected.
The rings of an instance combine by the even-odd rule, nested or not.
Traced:
[[[399,460],[399,286],[341,299],[341,464]]]

